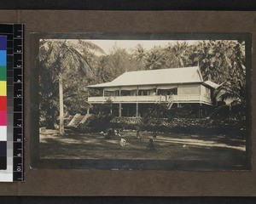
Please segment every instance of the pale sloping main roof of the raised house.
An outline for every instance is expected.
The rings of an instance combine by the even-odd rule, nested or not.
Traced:
[[[105,88],[189,82],[203,82],[198,66],[150,71],[129,71],[115,78],[112,82],[90,85],[88,87]]]

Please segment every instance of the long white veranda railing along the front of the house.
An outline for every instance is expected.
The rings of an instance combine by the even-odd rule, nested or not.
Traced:
[[[89,103],[104,103],[107,101],[111,101],[113,103],[158,103],[158,102],[168,102],[172,100],[174,103],[186,103],[186,102],[197,102],[197,103],[207,103],[212,104],[212,100],[202,95],[144,95],[144,96],[96,96],[89,97]]]

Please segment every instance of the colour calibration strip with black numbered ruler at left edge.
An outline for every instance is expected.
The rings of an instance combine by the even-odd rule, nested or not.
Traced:
[[[1,99],[1,124],[5,122],[5,133],[0,146],[5,153],[5,160],[0,167],[0,181],[12,182],[23,180],[23,25],[0,24],[0,36],[7,37],[5,60],[5,71],[1,64],[0,72],[0,96]],[[4,44],[3,44],[4,46]],[[1,47],[2,48],[2,47]],[[4,47],[3,47],[4,48]],[[2,109],[5,108],[5,112]],[[2,113],[5,120],[2,120]],[[2,125],[0,125],[2,127]],[[4,127],[4,126],[3,126]],[[5,141],[4,141],[5,139]],[[5,142],[5,143],[4,143]],[[5,145],[4,145],[5,144]],[[5,149],[4,149],[5,148]],[[1,158],[1,160],[4,159]],[[6,161],[6,164],[4,164]]]

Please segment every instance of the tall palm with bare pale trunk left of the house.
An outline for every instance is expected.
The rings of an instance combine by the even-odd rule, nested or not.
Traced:
[[[84,55],[90,49],[103,53],[102,48],[83,40],[40,41],[38,56],[40,65],[50,70],[52,80],[59,83],[60,135],[64,135],[63,80],[73,73],[90,77],[92,71]]]

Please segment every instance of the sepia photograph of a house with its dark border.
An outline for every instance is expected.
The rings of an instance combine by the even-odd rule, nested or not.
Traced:
[[[250,37],[32,33],[35,167],[250,170]]]

